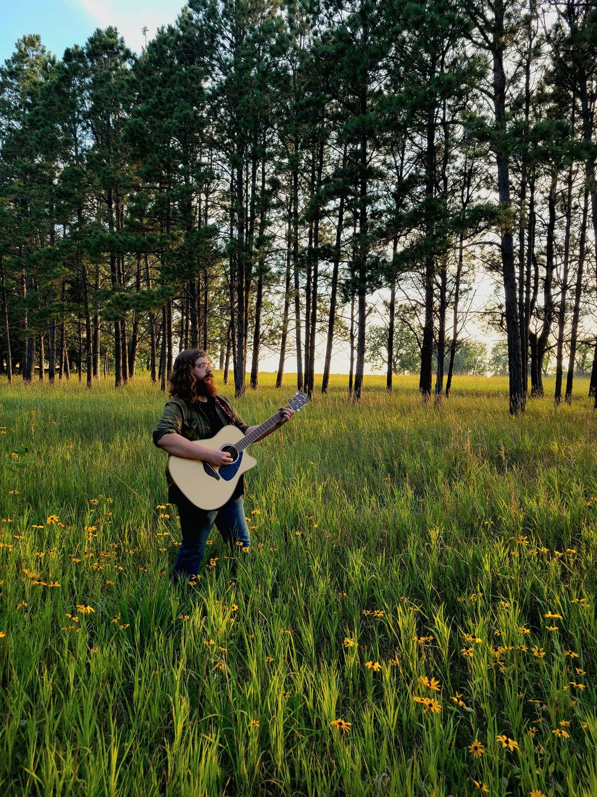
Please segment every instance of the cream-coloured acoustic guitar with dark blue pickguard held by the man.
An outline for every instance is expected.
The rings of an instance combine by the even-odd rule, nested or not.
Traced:
[[[299,412],[308,401],[305,393],[297,392],[287,403],[295,412]],[[209,465],[199,459],[187,459],[170,454],[168,470],[178,489],[189,501],[200,509],[219,509],[234,492],[241,475],[257,464],[257,460],[249,456],[245,449],[256,442],[263,432],[271,430],[283,418],[278,411],[261,426],[257,426],[251,434],[243,434],[238,426],[223,426],[213,438],[193,440],[197,446],[226,451],[232,462],[220,467]]]

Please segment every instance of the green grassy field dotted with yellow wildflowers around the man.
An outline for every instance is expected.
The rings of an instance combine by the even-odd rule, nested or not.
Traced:
[[[2,795],[597,795],[586,383],[345,383],[252,447],[252,550],[214,531],[189,593],[164,395],[0,383]]]

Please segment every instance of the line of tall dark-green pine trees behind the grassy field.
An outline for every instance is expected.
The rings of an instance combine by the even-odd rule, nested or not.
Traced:
[[[586,0],[190,0],[140,55],[26,35],[0,68],[0,368],[119,387],[142,361],[164,389],[203,347],[240,396],[275,351],[278,386],[293,357],[325,393],[342,337],[358,401],[414,342],[439,401],[476,314],[511,412],[548,359],[570,400],[579,352],[597,406],[596,97]]]

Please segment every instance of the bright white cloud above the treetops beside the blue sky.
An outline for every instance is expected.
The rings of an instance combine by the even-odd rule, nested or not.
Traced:
[[[139,53],[145,43],[142,27],[147,27],[149,41],[158,27],[174,22],[184,0],[68,0],[68,3],[84,10],[96,27],[115,26],[127,45]]]

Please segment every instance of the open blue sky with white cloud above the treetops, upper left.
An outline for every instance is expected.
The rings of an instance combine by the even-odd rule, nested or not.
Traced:
[[[0,63],[14,52],[18,38],[39,33],[57,57],[72,45],[84,45],[93,31],[113,25],[127,45],[140,53],[159,26],[174,22],[184,0],[0,0]]]

